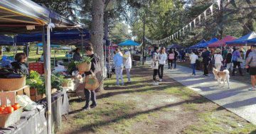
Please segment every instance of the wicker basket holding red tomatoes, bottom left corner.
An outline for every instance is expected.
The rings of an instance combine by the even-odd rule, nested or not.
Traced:
[[[13,113],[9,114],[1,114],[0,115],[0,128],[7,128],[13,123],[16,123],[20,120],[21,118],[21,113],[22,113],[23,108],[19,108]]]

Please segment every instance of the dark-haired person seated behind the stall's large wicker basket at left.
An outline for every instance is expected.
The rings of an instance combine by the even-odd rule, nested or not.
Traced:
[[[11,62],[11,66],[18,72],[21,72],[22,74],[26,74],[26,76],[29,75],[28,67],[26,66],[27,57],[24,52],[17,53],[14,57],[14,60],[16,62]]]

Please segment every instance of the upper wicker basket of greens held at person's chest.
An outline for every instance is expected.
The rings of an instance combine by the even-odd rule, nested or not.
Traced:
[[[79,72],[88,72],[90,71],[90,67],[91,67],[91,61],[92,58],[91,57],[82,57],[82,60],[80,61],[75,61],[75,65],[76,67],[78,67]]]

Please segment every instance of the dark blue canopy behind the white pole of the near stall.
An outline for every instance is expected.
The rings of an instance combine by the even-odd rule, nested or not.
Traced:
[[[50,33],[50,40],[81,40],[81,35],[83,34],[84,39],[90,39],[90,33],[88,30],[63,30],[55,31]],[[41,42],[42,33],[34,34],[21,34],[14,37],[16,43],[31,43],[31,42]]]

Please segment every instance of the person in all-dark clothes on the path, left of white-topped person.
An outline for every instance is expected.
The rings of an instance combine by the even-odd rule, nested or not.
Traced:
[[[210,62],[210,52],[208,51],[208,48],[203,48],[203,76],[208,77],[208,65]]]

